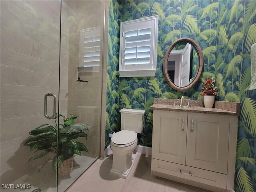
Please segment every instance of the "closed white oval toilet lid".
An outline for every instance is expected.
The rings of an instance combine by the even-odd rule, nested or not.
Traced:
[[[111,141],[118,145],[125,145],[134,142],[137,134],[134,131],[121,130],[111,137]]]

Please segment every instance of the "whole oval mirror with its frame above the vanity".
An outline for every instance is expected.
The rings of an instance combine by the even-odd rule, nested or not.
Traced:
[[[180,38],[166,51],[164,77],[175,90],[186,91],[198,82],[203,66],[204,56],[200,46],[190,38]]]

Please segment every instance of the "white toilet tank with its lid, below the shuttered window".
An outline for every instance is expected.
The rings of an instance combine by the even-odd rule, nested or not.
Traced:
[[[121,130],[141,133],[145,112],[144,110],[121,109]]]

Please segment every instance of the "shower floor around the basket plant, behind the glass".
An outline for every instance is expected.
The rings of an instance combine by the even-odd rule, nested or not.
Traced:
[[[58,192],[64,192],[96,159],[87,156],[74,156],[74,168],[69,176],[58,178]],[[30,189],[1,189],[3,192],[32,192],[41,189],[41,192],[56,192],[56,174],[52,170],[52,162],[48,162],[38,173],[39,168],[29,172],[16,181],[17,184],[31,185]]]

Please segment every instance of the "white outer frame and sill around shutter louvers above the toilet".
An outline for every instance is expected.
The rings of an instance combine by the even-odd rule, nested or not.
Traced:
[[[150,53],[150,57],[152,56],[152,64],[150,63],[151,69],[145,69],[145,70],[120,70],[122,69],[122,57],[123,57],[123,40],[124,32],[123,32],[123,25],[130,24],[130,23],[140,23],[143,21],[152,21],[154,20],[155,26],[153,28],[154,30],[154,36],[152,36],[151,41],[154,41],[153,46],[153,52]],[[126,22],[121,22],[120,24],[120,58],[119,58],[119,74],[120,77],[154,77],[156,76],[156,61],[157,61],[157,43],[158,43],[158,15],[146,17],[146,18],[140,18],[136,20],[130,20]]]

